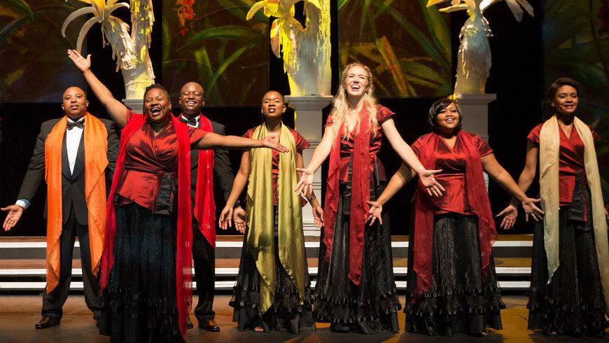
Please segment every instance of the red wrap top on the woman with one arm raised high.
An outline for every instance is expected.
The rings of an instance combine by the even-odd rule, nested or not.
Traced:
[[[135,113],[127,111],[127,121]],[[206,131],[188,127],[190,146],[207,134]],[[154,135],[148,122],[135,132],[127,142],[125,167],[115,193],[118,206],[135,202],[154,212],[160,183],[164,173],[172,178],[178,175],[178,137],[171,122]]]

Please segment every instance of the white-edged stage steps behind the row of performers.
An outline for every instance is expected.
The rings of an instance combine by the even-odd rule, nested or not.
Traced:
[[[526,290],[531,275],[532,235],[500,237],[493,245],[496,272],[500,287],[504,290]],[[216,290],[230,290],[235,285],[239,272],[239,258],[243,244],[242,236],[218,236],[216,242]],[[311,286],[317,276],[318,237],[306,237],[305,249],[309,263]],[[407,236],[393,236],[393,272],[398,289],[406,288]],[[41,291],[45,287],[45,237],[0,238],[0,293]],[[80,250],[76,241],[73,255],[72,282],[70,289],[83,290],[80,269]],[[193,286],[196,275],[193,270]]]

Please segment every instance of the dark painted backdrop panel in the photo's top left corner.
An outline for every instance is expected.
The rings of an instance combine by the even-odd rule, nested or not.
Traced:
[[[58,102],[67,87],[84,86],[66,58],[76,47],[82,19],[61,34],[70,13],[83,4],[64,0],[0,1],[0,102]]]

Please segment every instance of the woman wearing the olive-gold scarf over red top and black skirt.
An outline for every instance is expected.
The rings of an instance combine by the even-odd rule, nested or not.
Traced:
[[[300,177],[296,167],[303,167],[302,151],[311,144],[281,122],[286,104],[279,92],[267,92],[260,107],[264,122],[243,137],[272,132],[281,144],[291,148],[290,153],[281,155],[261,156],[260,149],[241,155],[239,172],[220,216],[223,229],[234,221],[237,230],[245,233],[239,274],[229,305],[235,307],[232,320],[239,330],[297,334],[315,330],[302,231],[301,207],[306,201],[293,192]],[[237,198],[246,184],[248,225],[241,207],[235,208],[233,216]],[[314,224],[321,227],[323,210],[313,193],[307,199],[313,209]]]

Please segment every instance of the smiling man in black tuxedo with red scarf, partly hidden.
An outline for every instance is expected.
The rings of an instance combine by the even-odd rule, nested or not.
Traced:
[[[180,121],[204,131],[225,135],[224,125],[207,119],[201,114],[205,104],[203,87],[194,82],[186,83],[180,90]],[[213,170],[213,175],[212,175]],[[216,281],[216,206],[214,185],[228,200],[234,179],[228,150],[190,151],[190,204],[193,207],[193,260],[197,276],[199,304],[195,316],[199,327],[218,332],[220,326],[214,321],[214,284]],[[199,186],[197,186],[199,185]],[[217,194],[217,193],[216,193]]]

